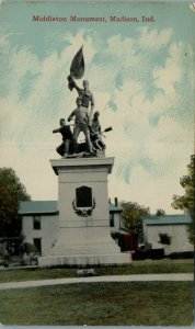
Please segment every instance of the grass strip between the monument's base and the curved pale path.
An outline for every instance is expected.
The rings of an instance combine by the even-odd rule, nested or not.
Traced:
[[[123,275],[146,273],[193,273],[193,260],[135,261],[124,266],[95,268],[97,275]],[[77,269],[22,269],[0,271],[0,282],[61,279],[77,276]]]

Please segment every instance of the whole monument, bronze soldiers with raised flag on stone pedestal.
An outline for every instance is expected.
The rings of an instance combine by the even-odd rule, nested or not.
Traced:
[[[74,117],[73,133],[69,132],[65,120],[60,120],[60,127],[53,131],[62,135],[62,144],[56,149],[61,158],[50,160],[58,175],[59,220],[57,240],[49,254],[38,259],[41,266],[130,262],[130,256],[122,253],[111,237],[107,175],[112,172],[114,158],[105,157],[100,112],[94,112],[89,82],[84,80],[83,89],[80,89],[74,81],[83,73],[81,47],[73,57],[68,76],[69,89],[78,92],[77,109],[68,118]],[[104,132],[111,129],[108,127]],[[80,132],[85,136],[81,144],[78,143]]]

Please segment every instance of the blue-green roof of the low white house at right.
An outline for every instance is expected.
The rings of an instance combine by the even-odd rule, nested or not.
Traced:
[[[192,218],[190,215],[151,215],[150,217],[144,219],[145,225],[179,225],[190,224],[191,222]]]

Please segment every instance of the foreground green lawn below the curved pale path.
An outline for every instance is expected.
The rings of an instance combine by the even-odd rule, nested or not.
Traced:
[[[193,283],[82,283],[0,292],[3,325],[190,326]]]

